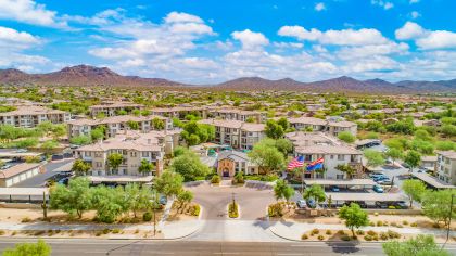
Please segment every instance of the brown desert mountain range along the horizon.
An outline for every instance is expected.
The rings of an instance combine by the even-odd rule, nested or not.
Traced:
[[[50,86],[115,86],[115,87],[156,87],[156,88],[207,88],[218,90],[306,90],[314,92],[352,93],[427,93],[456,92],[456,79],[440,81],[404,80],[389,82],[379,78],[357,80],[342,76],[328,80],[301,82],[291,78],[269,80],[261,77],[242,77],[221,84],[197,86],[162,78],[122,76],[107,67],[78,65],[64,67],[47,74],[27,74],[9,68],[0,69],[0,84],[3,85],[50,85]]]

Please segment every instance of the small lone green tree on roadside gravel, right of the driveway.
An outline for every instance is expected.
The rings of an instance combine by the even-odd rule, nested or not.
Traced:
[[[355,238],[355,228],[368,226],[369,217],[358,204],[351,203],[350,206],[344,205],[339,210],[339,218],[345,220],[345,226],[352,231],[353,238]]]

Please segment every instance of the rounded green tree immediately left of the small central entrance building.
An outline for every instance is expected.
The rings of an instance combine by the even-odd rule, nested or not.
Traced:
[[[169,165],[169,169],[180,174],[186,181],[194,180],[197,177],[206,176],[211,172],[207,165],[203,164],[200,157],[190,151],[175,157]]]

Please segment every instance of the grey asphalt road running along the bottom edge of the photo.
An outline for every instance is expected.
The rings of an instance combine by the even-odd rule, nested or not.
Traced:
[[[35,240],[3,239],[0,251],[16,242]],[[189,241],[125,241],[125,240],[47,240],[52,255],[383,255],[381,244],[352,243],[245,243],[245,242],[189,242]]]

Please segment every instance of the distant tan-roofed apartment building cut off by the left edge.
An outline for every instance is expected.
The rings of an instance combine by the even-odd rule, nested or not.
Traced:
[[[16,106],[15,111],[0,113],[0,125],[33,128],[43,121],[63,124],[69,121],[71,118],[72,115],[68,112],[51,110],[42,106],[23,105]]]

